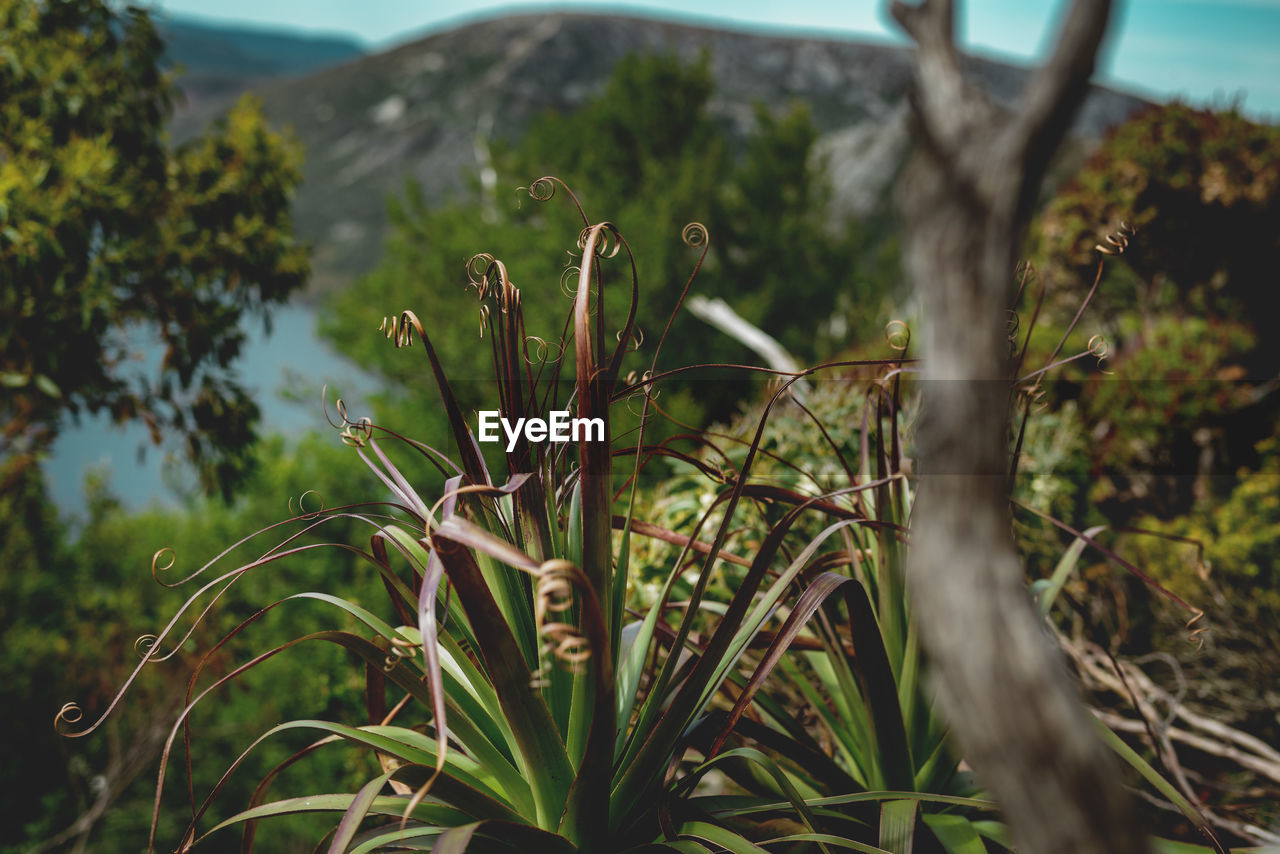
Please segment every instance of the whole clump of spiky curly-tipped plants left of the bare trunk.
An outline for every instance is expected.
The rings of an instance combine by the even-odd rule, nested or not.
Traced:
[[[554,187],[543,179],[530,195],[545,201]],[[620,379],[639,338],[635,262],[614,225],[582,220],[573,305],[558,342],[525,329],[521,291],[502,261],[480,255],[467,270],[493,351],[492,388],[502,416],[515,421],[572,406],[579,419],[599,420],[603,438],[584,431],[570,447],[518,434],[492,463],[431,344],[430,324],[403,311],[383,330],[397,347],[422,346],[454,456],[367,419],[349,420],[339,406],[344,442],[390,499],[300,510],[266,529],[261,534],[285,535],[257,560],[206,583],[147,648],[140,671],[165,657],[163,645],[182,647],[191,636],[179,629],[182,620],[193,616],[198,624],[230,585],[283,558],[339,547],[312,542],[330,521],[369,526],[367,549],[340,547],[379,574],[389,595],[384,613],[305,590],[268,604],[227,635],[205,661],[291,602],[321,603],[343,621],[271,648],[205,686],[205,665],[197,667],[165,748],[156,813],[179,732],[192,761],[192,712],[294,645],[325,641],[362,662],[367,722],[296,720],[255,739],[207,796],[191,793],[192,821],[179,850],[233,825],[243,826],[242,848],[251,850],[260,819],[300,813],[332,817],[321,844],[333,853],[1000,850],[998,825],[980,817],[991,804],[959,773],[922,689],[901,577],[911,495],[899,433],[902,356],[856,362],[888,369],[868,396],[856,462],[822,429],[846,475],[841,484],[814,480],[799,488],[753,478],[771,415],[792,383],[818,369],[791,375],[773,392],[732,466],[700,463],[669,442],[646,443],[653,391],[682,369],[658,373],[663,332],[648,370]],[[690,227],[685,237],[705,255],[704,229]],[[623,283],[630,279],[630,300],[609,337],[607,321],[620,312],[607,306],[605,291],[618,268]],[[678,309],[677,302],[673,312]],[[562,383],[562,373],[571,379]],[[628,446],[616,442],[611,428],[623,419],[617,405],[635,397],[641,410]],[[698,519],[678,531],[635,511],[644,469],[663,457],[692,462],[718,484]],[[443,488],[428,493],[433,501],[424,499],[424,484],[440,479],[417,478],[408,460],[425,461],[443,478]],[[753,519],[751,506],[763,513]],[[744,519],[754,536],[735,536]],[[641,536],[675,543],[678,553],[655,595],[628,621],[632,538]],[[682,586],[691,565],[695,576]],[[740,572],[717,600],[708,588],[718,567]],[[677,590],[681,602],[673,599]],[[791,647],[799,657],[790,656]],[[750,657],[762,649],[758,661]],[[810,704],[815,727],[792,720],[778,699],[787,691]],[[753,716],[745,717],[749,708]],[[65,720],[74,708],[64,712]],[[205,822],[257,745],[294,731],[319,739],[273,768],[247,809]],[[289,766],[334,744],[369,762],[357,791],[270,799]],[[699,791],[716,768],[736,787]],[[927,831],[918,835],[920,827]]]

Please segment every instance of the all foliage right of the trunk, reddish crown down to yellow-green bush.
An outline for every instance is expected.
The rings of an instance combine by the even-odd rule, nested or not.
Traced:
[[[1097,280],[1091,325],[1111,351],[1105,366],[1076,362],[1047,385],[1046,402],[1060,415],[1074,405],[1071,431],[1087,440],[1069,466],[1070,494],[1056,498],[1074,512],[1039,510],[1098,525],[1094,536],[1105,531],[1132,567],[1204,611],[1188,626],[1194,613],[1149,585],[1085,565],[1068,586],[1076,631],[1106,634],[1100,645],[1138,661],[1158,656],[1176,680],[1164,681],[1164,667],[1157,676],[1188,708],[1268,743],[1280,640],[1267,567],[1280,531],[1270,520],[1274,439],[1260,439],[1280,412],[1280,348],[1267,325],[1280,307],[1277,191],[1277,128],[1235,110],[1157,106],[1108,136],[1036,229],[1051,287],[1046,316],[1064,323]],[[1100,256],[1098,245],[1116,257]],[[1080,347],[1073,341],[1068,352]],[[1032,447],[1034,456],[1043,442]],[[1047,575],[1062,535],[1024,519],[1033,574]],[[1188,643],[1193,629],[1199,643]],[[1181,761],[1203,776],[1198,785],[1225,787],[1215,809],[1268,814],[1258,810],[1270,794],[1263,778],[1230,776],[1197,754]]]

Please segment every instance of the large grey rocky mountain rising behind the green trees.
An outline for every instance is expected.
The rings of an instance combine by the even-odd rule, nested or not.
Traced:
[[[737,134],[750,129],[755,101],[806,101],[844,211],[865,214],[883,202],[909,143],[909,49],[628,17],[511,15],[253,87],[270,119],[306,146],[296,222],[315,246],[312,287],[342,287],[376,264],[385,198],[407,181],[428,200],[465,192],[489,140],[518,137],[544,110],[580,106],[635,51],[689,59],[707,51],[716,78],[709,109]],[[1005,102],[1028,74],[986,60],[972,60],[969,73]],[[1094,88],[1075,132],[1094,140],[1142,104]],[[206,101],[182,110],[175,138],[197,133],[224,108]]]

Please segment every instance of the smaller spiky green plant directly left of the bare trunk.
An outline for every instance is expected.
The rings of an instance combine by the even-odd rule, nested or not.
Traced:
[[[819,836],[890,851],[986,850],[973,848],[986,836],[998,850],[1005,835],[991,821],[993,804],[960,771],[924,685],[902,586],[914,481],[901,428],[910,396],[901,378],[914,365],[906,359],[906,325],[895,321],[887,332],[901,351],[892,364],[813,382],[771,420],[754,471],[728,475],[730,481],[746,479],[755,502],[733,545],[768,528],[780,504],[815,502],[822,512],[785,543],[805,567],[797,595],[781,626],[760,638],[756,666],[735,675],[733,705],[708,717],[701,744],[708,761],[685,787],[719,767],[762,807],[776,809],[786,800],[785,787],[739,761],[755,741],[805,793]],[[756,420],[748,410],[713,428],[698,460],[740,463],[750,446],[748,426]],[[836,424],[842,429],[828,428]],[[694,475],[673,481],[652,503],[684,517],[698,503],[687,493],[701,489],[703,479]],[[736,589],[739,577],[726,576],[714,595],[727,598]],[[751,808],[739,805],[733,814],[750,816]]]

